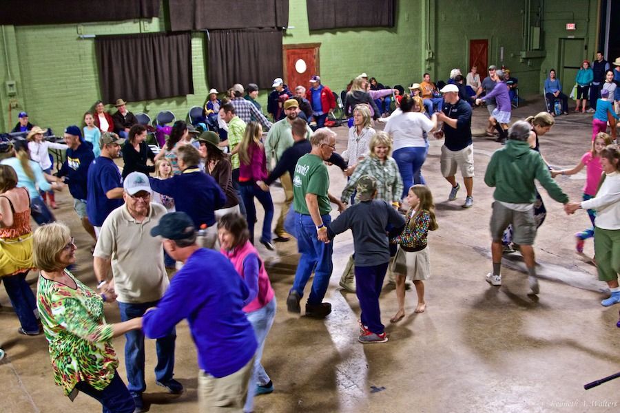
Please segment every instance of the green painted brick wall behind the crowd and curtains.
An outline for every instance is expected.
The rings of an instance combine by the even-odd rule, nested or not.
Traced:
[[[519,78],[521,95],[538,94],[546,70],[559,64],[561,38],[586,38],[587,56],[595,52],[597,0],[530,0],[544,4],[544,59],[521,61],[521,10],[528,0],[400,0],[394,28],[359,28],[309,32],[305,0],[289,1],[289,25],[284,43],[321,43],[320,74],[326,85],[338,91],[361,72],[375,76],[386,85],[407,85],[420,81],[422,73],[446,79],[453,67],[468,69],[469,39],[489,39],[490,62],[499,63],[499,47],[504,47],[504,63]],[[455,12],[458,10],[458,12]],[[570,10],[570,11],[567,11]],[[17,113],[26,110],[34,123],[52,127],[56,134],[70,124],[81,124],[83,112],[99,98],[94,41],[79,39],[83,34],[126,34],[165,30],[165,16],[143,21],[84,23],[82,25],[4,26],[0,33],[0,125],[11,129]],[[425,17],[425,16],[428,16]],[[567,33],[566,23],[577,23],[577,31]],[[7,50],[5,50],[5,43]],[[433,53],[426,60],[427,50]],[[8,55],[8,59],[7,56]],[[577,56],[576,60],[582,56]],[[125,62],[122,64],[131,64]],[[203,105],[207,84],[204,34],[192,35],[194,94],[177,98],[132,102],[132,112],[154,117],[162,109],[185,118],[189,107]],[[500,63],[501,64],[501,63]],[[4,82],[17,81],[18,107],[8,110],[10,98]],[[266,105],[267,92],[259,101]],[[122,97],[122,96],[121,96]],[[10,121],[9,121],[10,117]]]

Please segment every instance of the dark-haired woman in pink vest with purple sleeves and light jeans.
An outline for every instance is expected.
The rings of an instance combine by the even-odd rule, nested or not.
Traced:
[[[254,122],[253,122],[254,123]],[[259,189],[260,191],[260,189]],[[244,412],[254,411],[254,396],[273,392],[273,382],[262,367],[260,359],[265,349],[267,334],[276,317],[276,295],[271,288],[269,275],[258,251],[249,241],[245,219],[238,213],[228,213],[218,222],[218,239],[221,253],[233,264],[249,290],[243,310],[254,328],[258,349],[254,356],[254,369],[247,388]]]

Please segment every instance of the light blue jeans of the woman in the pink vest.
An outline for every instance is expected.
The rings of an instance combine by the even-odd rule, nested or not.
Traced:
[[[269,374],[265,372],[265,368],[262,367],[260,359],[262,358],[262,350],[265,350],[265,340],[267,340],[267,334],[273,326],[273,319],[276,318],[276,296],[269,301],[265,307],[260,310],[247,313],[247,321],[250,322],[252,328],[254,328],[254,335],[256,335],[256,341],[258,341],[258,348],[254,355],[254,368],[252,369],[252,375],[250,377],[249,385],[247,386],[247,399],[245,400],[244,412],[254,412],[254,394],[256,394],[257,385],[266,385],[271,381]]]

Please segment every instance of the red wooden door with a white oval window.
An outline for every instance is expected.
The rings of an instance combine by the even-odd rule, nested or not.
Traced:
[[[319,46],[311,45],[284,45],[284,81],[289,85],[291,92],[295,92],[298,85],[306,89],[310,87],[310,78],[319,73],[318,50]]]

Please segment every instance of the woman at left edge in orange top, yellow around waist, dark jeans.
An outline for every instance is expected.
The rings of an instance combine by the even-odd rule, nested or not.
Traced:
[[[17,332],[23,335],[41,334],[34,294],[25,281],[31,269],[30,195],[17,187],[15,170],[0,165],[0,279],[21,323]]]

